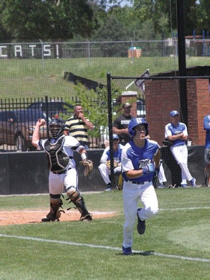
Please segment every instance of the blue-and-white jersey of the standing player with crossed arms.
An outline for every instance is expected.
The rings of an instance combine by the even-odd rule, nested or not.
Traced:
[[[165,126],[165,138],[168,138],[169,136],[173,136],[173,135],[178,135],[182,132],[184,136],[188,135],[187,126],[184,123],[178,123],[177,126],[175,126],[173,123],[168,123]],[[181,146],[181,145],[185,145],[185,140],[176,139],[173,141],[173,146]]]

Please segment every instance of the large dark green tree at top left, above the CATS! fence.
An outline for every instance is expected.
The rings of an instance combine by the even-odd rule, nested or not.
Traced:
[[[2,27],[14,39],[69,39],[94,28],[86,0],[1,0]]]

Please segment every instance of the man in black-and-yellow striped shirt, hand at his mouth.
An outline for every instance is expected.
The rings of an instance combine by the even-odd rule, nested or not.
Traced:
[[[75,105],[73,116],[65,123],[64,134],[73,136],[85,149],[89,149],[88,129],[93,129],[92,123],[84,117],[82,106]]]

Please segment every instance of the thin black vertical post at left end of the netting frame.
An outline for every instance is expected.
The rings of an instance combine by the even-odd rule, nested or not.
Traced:
[[[113,157],[113,140],[112,140],[112,98],[111,98],[111,74],[106,74],[107,78],[107,101],[108,101],[108,128],[109,128],[109,148],[110,148],[110,181],[111,188],[115,187],[114,180],[114,157]]]

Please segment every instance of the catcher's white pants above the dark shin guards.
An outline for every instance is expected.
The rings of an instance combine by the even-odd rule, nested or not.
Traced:
[[[71,168],[64,174],[49,174],[49,191],[51,194],[62,194],[64,187],[77,189],[78,176],[75,168]]]

